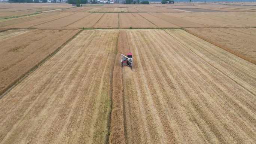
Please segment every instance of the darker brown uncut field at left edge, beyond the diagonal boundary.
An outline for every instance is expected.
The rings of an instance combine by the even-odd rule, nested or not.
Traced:
[[[5,32],[2,33],[12,37],[8,39],[4,35],[1,36],[3,40],[0,47],[0,94],[74,36],[78,30],[11,31],[16,36]]]

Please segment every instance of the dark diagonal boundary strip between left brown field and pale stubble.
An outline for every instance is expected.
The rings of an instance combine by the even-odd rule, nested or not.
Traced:
[[[3,98],[4,95],[6,95],[9,91],[11,91],[16,85],[21,83],[22,80],[24,80],[26,77],[28,77],[31,73],[33,73],[42,64],[44,64],[48,59],[50,59],[52,56],[54,56],[55,53],[60,51],[68,42],[70,42],[72,39],[74,39],[82,31],[83,30],[78,31],[76,34],[74,34],[74,36],[72,36],[70,39],[68,39],[66,42],[64,42],[61,46],[59,46],[57,49],[55,49],[52,53],[50,53],[48,56],[46,56],[44,59],[42,59],[36,65],[34,65],[30,70],[28,70],[27,72],[22,74],[22,76],[20,76],[13,83],[11,83],[9,86],[7,86],[7,88],[3,90],[3,93],[0,94],[0,99]]]

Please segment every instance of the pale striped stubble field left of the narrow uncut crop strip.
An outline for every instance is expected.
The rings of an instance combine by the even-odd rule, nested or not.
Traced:
[[[4,95],[0,144],[105,143],[117,37],[82,31]]]

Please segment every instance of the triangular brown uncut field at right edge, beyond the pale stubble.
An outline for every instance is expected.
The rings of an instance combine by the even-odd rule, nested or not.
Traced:
[[[256,64],[256,28],[186,28],[186,31]]]

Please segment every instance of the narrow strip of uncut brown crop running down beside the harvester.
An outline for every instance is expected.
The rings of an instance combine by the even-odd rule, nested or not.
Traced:
[[[118,36],[118,51],[113,70],[112,85],[112,112],[110,125],[110,144],[125,144],[124,130],[124,105],[122,68],[120,64],[121,53],[128,53],[125,31],[120,31]]]

